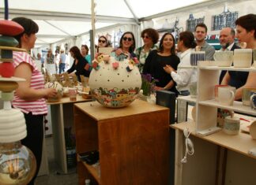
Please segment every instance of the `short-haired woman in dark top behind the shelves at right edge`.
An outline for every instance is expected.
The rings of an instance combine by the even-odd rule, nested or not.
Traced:
[[[247,14],[235,20],[236,35],[239,43],[247,43],[248,49],[256,50],[256,14]],[[254,64],[255,65],[255,64]],[[235,100],[241,100],[242,89],[256,87],[256,72],[226,72],[221,84],[236,88]]]

